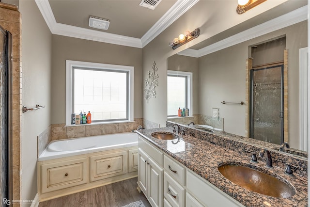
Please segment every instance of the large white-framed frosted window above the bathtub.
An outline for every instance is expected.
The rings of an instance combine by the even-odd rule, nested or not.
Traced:
[[[66,125],[91,111],[92,123],[133,121],[132,66],[66,61]]]

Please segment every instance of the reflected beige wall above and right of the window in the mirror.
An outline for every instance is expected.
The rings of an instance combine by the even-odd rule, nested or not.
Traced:
[[[193,114],[197,114],[199,109],[198,58],[187,57],[183,55],[173,55],[168,58],[168,70],[193,73],[193,108],[189,110],[193,110]],[[178,92],[176,91],[175,93]]]

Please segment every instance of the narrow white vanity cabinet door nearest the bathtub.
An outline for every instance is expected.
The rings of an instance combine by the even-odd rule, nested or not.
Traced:
[[[147,194],[147,156],[139,148],[138,150],[138,184],[140,186],[140,189],[144,192],[146,196]]]

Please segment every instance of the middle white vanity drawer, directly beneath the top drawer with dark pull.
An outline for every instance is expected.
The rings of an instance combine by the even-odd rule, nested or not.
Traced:
[[[185,205],[185,188],[166,172],[164,175],[164,196],[172,207],[183,207]]]

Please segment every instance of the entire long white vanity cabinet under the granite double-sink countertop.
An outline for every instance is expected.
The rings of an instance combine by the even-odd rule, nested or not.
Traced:
[[[138,188],[153,207],[244,207],[139,137]]]

